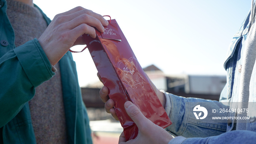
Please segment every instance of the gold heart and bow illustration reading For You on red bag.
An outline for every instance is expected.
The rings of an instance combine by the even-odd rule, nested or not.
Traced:
[[[138,84],[144,87],[142,76],[138,76],[138,60],[136,58],[130,57],[128,60],[120,60],[118,62],[118,68],[128,79],[127,82],[130,87],[138,88]]]

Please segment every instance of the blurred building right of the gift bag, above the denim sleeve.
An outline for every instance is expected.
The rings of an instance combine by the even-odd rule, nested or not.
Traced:
[[[158,89],[178,96],[219,100],[226,84],[226,76],[215,75],[165,75],[154,65],[144,68]]]

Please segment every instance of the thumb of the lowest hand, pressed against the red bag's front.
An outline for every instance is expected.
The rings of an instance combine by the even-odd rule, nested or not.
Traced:
[[[138,128],[144,128],[145,124],[148,124],[148,120],[142,112],[132,102],[127,101],[124,103],[127,114],[132,118]],[[150,121],[151,122],[151,121]]]

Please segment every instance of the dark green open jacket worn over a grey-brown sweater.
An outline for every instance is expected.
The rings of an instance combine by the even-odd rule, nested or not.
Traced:
[[[36,141],[28,101],[35,95],[35,87],[49,80],[54,72],[37,39],[15,48],[7,3],[0,0],[0,5],[0,143],[33,144]],[[41,13],[49,24],[50,19]],[[67,52],[59,62],[68,142],[92,143],[72,54]]]

